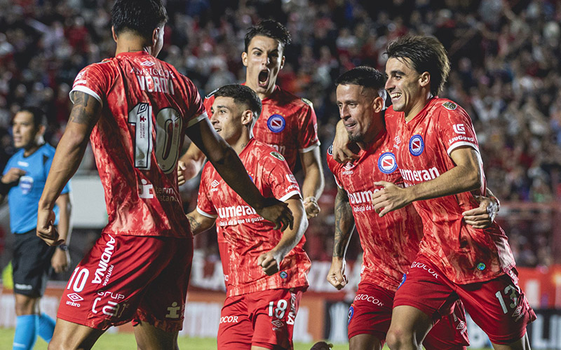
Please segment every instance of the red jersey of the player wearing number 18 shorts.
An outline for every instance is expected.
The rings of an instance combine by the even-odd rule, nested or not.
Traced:
[[[284,158],[271,146],[251,139],[239,154],[245,169],[264,197],[280,201],[297,195],[298,183]],[[288,253],[280,272],[267,276],[257,265],[257,258],[278,244],[283,232],[274,230],[222,180],[207,162],[198,188],[198,213],[216,218],[218,246],[227,295],[241,295],[258,290],[308,286],[310,259],[304,252],[306,239]]]

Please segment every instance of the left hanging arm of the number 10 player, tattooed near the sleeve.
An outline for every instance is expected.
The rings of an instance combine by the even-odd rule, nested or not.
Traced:
[[[58,143],[43,195],[39,200],[37,236],[50,246],[64,242],[64,239],[59,239],[53,225],[55,221],[53,207],[62,188],[80,165],[90,134],[100,118],[100,110],[101,104],[95,98],[85,92],[74,92],[74,106],[65,133]]]

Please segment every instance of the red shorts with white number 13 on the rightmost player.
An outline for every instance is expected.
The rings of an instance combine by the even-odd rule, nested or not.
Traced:
[[[517,341],[526,334],[526,325],[536,319],[518,286],[515,269],[490,281],[457,284],[424,255],[418,255],[411,265],[393,306],[409,305],[437,320],[449,314],[458,299],[494,344]]]

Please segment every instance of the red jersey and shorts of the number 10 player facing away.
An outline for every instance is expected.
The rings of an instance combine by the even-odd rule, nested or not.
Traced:
[[[102,105],[90,141],[109,223],[74,270],[58,317],[180,330],[193,237],[175,172],[185,130],[206,118],[203,101],[191,80],[144,51],[86,66],[71,99],[77,91]]]

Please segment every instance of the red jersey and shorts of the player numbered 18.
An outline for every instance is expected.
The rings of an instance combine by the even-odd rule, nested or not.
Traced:
[[[255,138],[239,154],[248,175],[265,197],[280,201],[300,197],[295,176],[283,155]],[[302,292],[308,287],[311,262],[306,239],[283,258],[279,272],[264,274],[257,264],[283,232],[255,213],[232,190],[210,163],[203,168],[196,210],[215,218],[227,299],[218,329],[219,349],[245,349],[248,344],[278,344],[292,349],[292,330]]]

